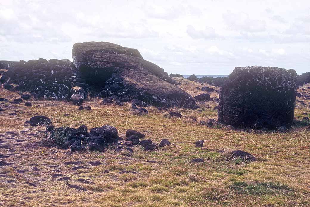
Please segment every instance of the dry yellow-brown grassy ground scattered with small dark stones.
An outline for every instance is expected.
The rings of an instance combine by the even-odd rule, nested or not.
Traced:
[[[183,78],[178,87],[193,97],[203,86]],[[200,89],[196,89],[199,87]],[[213,99],[218,93],[209,92]],[[78,110],[71,102],[23,100],[18,92],[0,88],[0,204],[1,206],[307,206],[310,205],[310,85],[298,89],[295,123],[288,132],[234,130],[214,124],[217,103],[201,102],[201,108],[179,109],[182,117],[147,107],[136,115],[131,104],[100,105],[85,100]],[[207,93],[207,92],[205,92]],[[25,106],[31,102],[32,106]],[[4,103],[4,104],[1,104]],[[141,145],[110,145],[104,152],[71,152],[43,145],[45,127],[24,126],[35,115],[51,118],[55,127],[88,129],[105,124],[126,137],[127,129],[145,134],[157,145],[145,151]],[[216,122],[215,122],[216,123]],[[203,146],[195,146],[204,140]],[[120,142],[124,143],[124,140]],[[253,154],[255,162],[231,159],[233,150]],[[196,162],[193,162],[196,159]]]

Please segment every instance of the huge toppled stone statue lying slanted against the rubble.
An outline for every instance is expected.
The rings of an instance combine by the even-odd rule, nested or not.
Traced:
[[[155,106],[197,107],[188,93],[174,85],[175,80],[144,60],[136,49],[108,42],[84,42],[73,45],[72,56],[74,65],[90,84],[106,87],[103,96],[108,95],[107,91],[126,89]],[[113,73],[118,77],[111,79]]]

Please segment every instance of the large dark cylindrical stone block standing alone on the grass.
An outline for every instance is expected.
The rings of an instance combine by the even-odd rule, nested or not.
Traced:
[[[293,122],[296,72],[277,67],[236,67],[219,92],[218,120],[236,127],[275,128]]]

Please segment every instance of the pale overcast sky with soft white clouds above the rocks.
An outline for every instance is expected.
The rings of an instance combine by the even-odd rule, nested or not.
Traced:
[[[0,0],[0,60],[68,58],[76,42],[137,48],[170,73],[310,71],[309,0]]]

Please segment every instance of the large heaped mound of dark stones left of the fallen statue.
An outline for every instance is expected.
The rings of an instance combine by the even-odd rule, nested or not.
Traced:
[[[47,61],[40,58],[28,62],[21,60],[7,69],[1,77],[1,83],[9,90],[12,90],[12,84],[15,84],[17,86],[13,90],[29,91],[36,99],[63,100],[70,98],[69,89],[75,85],[88,88],[88,85],[79,82],[83,82],[82,79],[75,79],[76,68],[68,59]]]

